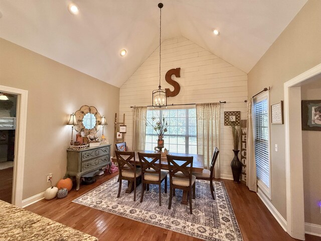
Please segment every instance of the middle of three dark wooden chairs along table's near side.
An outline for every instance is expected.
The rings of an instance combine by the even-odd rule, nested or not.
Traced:
[[[142,202],[142,198],[144,195],[144,184],[156,184],[158,185],[158,193],[159,193],[159,206],[162,206],[162,182],[165,180],[165,193],[167,193],[167,174],[168,172],[165,170],[161,170],[161,168],[155,166],[155,164],[159,164],[161,162],[162,154],[161,153],[140,153],[138,152],[139,158],[139,166],[141,168],[141,195],[140,202]],[[150,161],[149,161],[149,160]],[[148,189],[147,189],[148,190]]]

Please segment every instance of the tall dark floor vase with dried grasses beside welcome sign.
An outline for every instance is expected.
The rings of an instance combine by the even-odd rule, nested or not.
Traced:
[[[236,183],[240,182],[240,175],[242,172],[242,163],[240,162],[240,159],[238,157],[239,149],[239,143],[241,138],[241,128],[240,126],[236,126],[235,122],[231,122],[231,131],[232,131],[232,141],[233,141],[233,152],[234,152],[234,158],[231,162],[231,169],[233,174],[233,180]]]

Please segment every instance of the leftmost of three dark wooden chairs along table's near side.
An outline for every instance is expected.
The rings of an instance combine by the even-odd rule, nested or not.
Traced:
[[[122,180],[132,181],[134,183],[134,201],[136,201],[136,178],[141,176],[141,169],[136,167],[135,152],[115,151],[119,169],[119,188],[120,195]],[[131,164],[130,161],[134,162]]]

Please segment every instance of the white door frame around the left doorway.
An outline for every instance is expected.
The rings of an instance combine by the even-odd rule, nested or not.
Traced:
[[[0,85],[0,90],[18,95],[12,204],[21,207],[24,185],[28,90],[17,89],[4,85]]]

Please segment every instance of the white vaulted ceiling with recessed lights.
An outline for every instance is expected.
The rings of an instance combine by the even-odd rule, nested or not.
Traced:
[[[70,2],[0,0],[0,37],[120,87],[159,45],[159,2],[162,40],[184,36],[248,73],[307,0],[75,0],[75,16]]]

